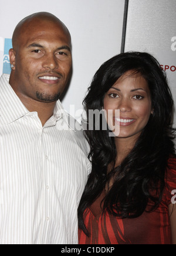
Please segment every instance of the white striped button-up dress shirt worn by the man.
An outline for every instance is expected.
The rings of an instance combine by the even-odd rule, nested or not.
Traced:
[[[77,244],[89,146],[60,101],[42,127],[8,79],[0,78],[0,244]]]

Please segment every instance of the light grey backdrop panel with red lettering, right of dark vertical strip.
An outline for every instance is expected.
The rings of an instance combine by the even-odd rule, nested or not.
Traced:
[[[176,1],[126,2],[128,11],[124,51],[145,51],[158,59],[161,68],[167,72],[176,107]]]

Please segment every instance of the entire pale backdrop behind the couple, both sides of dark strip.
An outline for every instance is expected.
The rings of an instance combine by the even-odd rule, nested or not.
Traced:
[[[72,35],[73,76],[62,104],[76,119],[82,114],[82,100],[94,73],[121,49],[153,54],[167,72],[176,102],[175,0],[51,0],[45,5],[43,0],[3,1],[0,8],[0,75],[11,72],[8,51],[12,47],[15,26],[25,16],[40,11],[56,15]]]

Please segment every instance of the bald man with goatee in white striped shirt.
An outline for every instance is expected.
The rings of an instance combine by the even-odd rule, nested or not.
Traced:
[[[72,73],[70,33],[39,12],[19,22],[12,45],[10,78],[0,78],[0,243],[77,244],[90,163],[59,101]]]

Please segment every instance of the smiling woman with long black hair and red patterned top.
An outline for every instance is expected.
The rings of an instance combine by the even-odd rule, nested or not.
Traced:
[[[79,243],[175,244],[174,104],[157,60],[114,56],[94,75],[84,104],[87,125],[89,110],[104,108],[107,129],[85,131],[92,173],[78,210]]]

